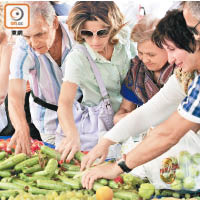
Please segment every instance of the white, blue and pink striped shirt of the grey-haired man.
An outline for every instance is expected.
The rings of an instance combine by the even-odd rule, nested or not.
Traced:
[[[49,53],[38,54],[20,38],[13,49],[10,79],[29,80],[35,96],[47,103],[58,104],[62,78],[65,70],[63,62],[71,49],[67,25],[59,20],[62,29],[62,64],[61,67]],[[31,97],[30,111],[32,121],[40,133],[54,135],[57,125],[57,112],[42,107]]]

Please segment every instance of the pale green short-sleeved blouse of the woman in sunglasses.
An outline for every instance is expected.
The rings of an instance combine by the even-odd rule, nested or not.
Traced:
[[[87,43],[86,46],[101,73],[104,85],[110,96],[114,112],[119,109],[122,101],[120,89],[128,69],[131,58],[135,57],[136,51],[133,42],[130,41],[130,30],[123,28],[117,35],[119,42],[114,46],[111,61],[95,52]],[[87,106],[98,105],[102,100],[97,81],[90,67],[89,61],[79,49],[73,49],[65,62],[65,75],[63,81],[76,83],[82,93],[82,103]]]

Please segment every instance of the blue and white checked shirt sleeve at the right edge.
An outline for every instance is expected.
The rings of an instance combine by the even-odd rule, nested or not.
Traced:
[[[200,123],[200,76],[195,74],[188,95],[178,107],[179,114],[194,123]]]

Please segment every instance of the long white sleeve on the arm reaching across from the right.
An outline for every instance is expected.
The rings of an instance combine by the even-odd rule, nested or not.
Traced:
[[[104,135],[104,138],[114,142],[123,142],[130,136],[135,136],[151,126],[158,125],[176,111],[185,96],[175,75],[172,75],[156,95],[120,120]]]

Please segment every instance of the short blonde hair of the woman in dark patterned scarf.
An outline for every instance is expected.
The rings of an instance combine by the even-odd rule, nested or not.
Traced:
[[[145,15],[133,27],[131,32],[131,39],[134,42],[144,42],[151,40],[151,36],[156,29],[159,20],[151,15]]]

